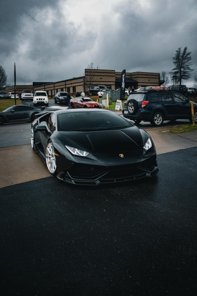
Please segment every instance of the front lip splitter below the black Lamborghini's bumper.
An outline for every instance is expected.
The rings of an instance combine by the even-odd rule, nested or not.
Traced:
[[[139,167],[140,168],[140,167]],[[157,166],[154,166],[151,170],[146,170],[143,168],[140,168],[142,170],[142,173],[136,176],[128,176],[128,177],[120,177],[120,178],[106,178],[108,172],[99,174],[95,176],[94,180],[90,179],[83,179],[83,178],[73,178],[71,175],[67,172],[61,172],[57,175],[57,178],[65,181],[69,184],[73,185],[90,185],[90,186],[97,186],[100,184],[109,184],[109,183],[119,183],[119,182],[126,182],[126,181],[132,181],[136,179],[141,179],[145,177],[153,177],[155,176],[158,172],[159,169]]]

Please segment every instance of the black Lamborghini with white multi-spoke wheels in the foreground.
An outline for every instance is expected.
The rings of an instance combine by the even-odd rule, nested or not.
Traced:
[[[48,112],[33,121],[31,145],[49,172],[70,184],[116,183],[158,173],[149,134],[109,110]]]

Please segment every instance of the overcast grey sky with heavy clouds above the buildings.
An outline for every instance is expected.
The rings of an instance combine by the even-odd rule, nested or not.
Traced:
[[[196,0],[0,0],[0,65],[14,83],[16,63],[17,84],[79,77],[91,62],[168,75],[187,46],[194,76],[196,13]]]

